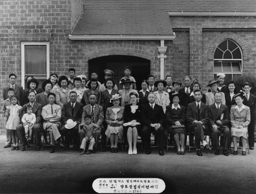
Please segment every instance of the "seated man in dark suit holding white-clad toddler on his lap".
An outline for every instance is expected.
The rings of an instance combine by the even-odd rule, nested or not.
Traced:
[[[23,113],[24,115],[26,113],[26,106],[31,105],[32,106],[32,113],[36,116],[36,122],[32,128],[34,138],[35,138],[35,145],[36,150],[40,150],[40,143],[41,143],[41,132],[42,132],[42,123],[41,123],[41,113],[42,113],[42,105],[35,101],[35,92],[31,91],[29,93],[28,99],[29,103],[23,105]],[[22,118],[22,117],[21,117]],[[23,124],[19,124],[16,128],[18,137],[20,139],[20,143],[22,143],[22,151],[26,149],[26,146],[28,145],[27,138],[25,137],[25,128]]]

